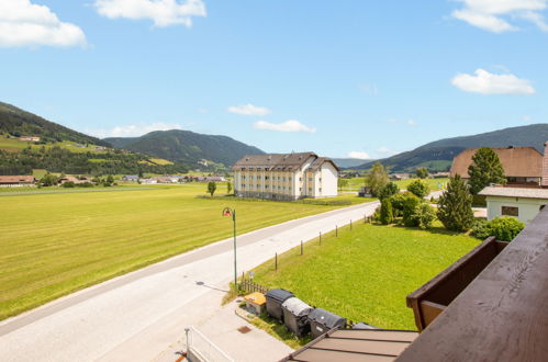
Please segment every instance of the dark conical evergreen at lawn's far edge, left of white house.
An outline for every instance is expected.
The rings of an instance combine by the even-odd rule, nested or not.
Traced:
[[[439,197],[437,216],[449,230],[466,231],[472,226],[472,195],[459,174],[449,179],[447,191]]]

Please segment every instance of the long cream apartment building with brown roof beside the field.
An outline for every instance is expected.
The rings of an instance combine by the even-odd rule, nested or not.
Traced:
[[[249,155],[232,170],[234,193],[241,197],[299,200],[337,195],[338,167],[314,152]]]

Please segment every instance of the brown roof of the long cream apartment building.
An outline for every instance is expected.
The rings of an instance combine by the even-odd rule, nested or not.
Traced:
[[[311,157],[317,158],[314,152],[300,154],[266,154],[266,155],[246,155],[234,166],[233,170],[242,168],[267,167],[277,169],[295,169],[304,165]]]

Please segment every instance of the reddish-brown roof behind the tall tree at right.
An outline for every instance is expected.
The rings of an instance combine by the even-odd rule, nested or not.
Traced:
[[[543,154],[534,147],[491,148],[495,151],[506,177],[539,178],[543,174]],[[478,148],[465,149],[452,160],[451,176],[469,178],[468,167]]]

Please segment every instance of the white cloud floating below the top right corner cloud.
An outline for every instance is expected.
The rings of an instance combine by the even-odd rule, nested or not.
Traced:
[[[477,69],[474,76],[459,73],[451,83],[466,91],[481,94],[533,94],[535,89],[527,79],[514,75],[494,75],[484,69]]]

